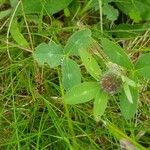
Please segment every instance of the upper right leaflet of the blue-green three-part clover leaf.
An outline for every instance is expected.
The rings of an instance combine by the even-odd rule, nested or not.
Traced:
[[[91,41],[91,31],[89,29],[76,31],[68,39],[64,52],[65,54],[78,54],[79,49],[89,48]]]

